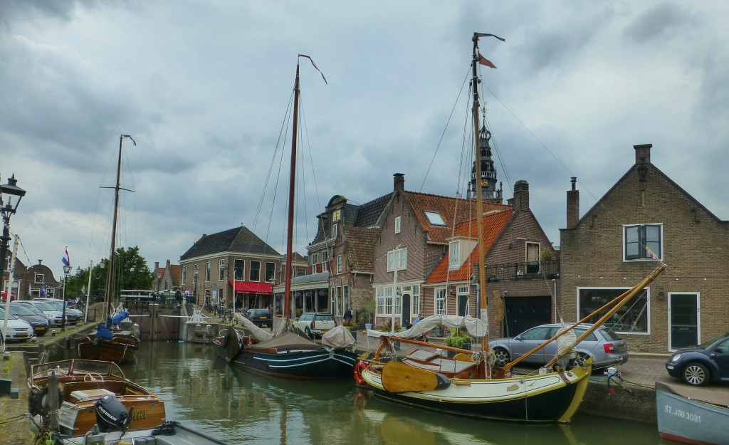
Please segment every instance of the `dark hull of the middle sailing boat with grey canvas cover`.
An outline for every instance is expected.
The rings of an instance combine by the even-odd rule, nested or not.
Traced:
[[[220,354],[219,354],[220,355]],[[225,352],[222,353],[225,356]],[[351,379],[358,357],[346,349],[256,349],[246,347],[230,364],[246,371],[285,379]]]

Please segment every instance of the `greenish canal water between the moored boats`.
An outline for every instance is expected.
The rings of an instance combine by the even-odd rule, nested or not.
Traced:
[[[521,425],[439,414],[369,398],[354,379],[293,382],[230,367],[210,345],[147,341],[128,378],[165,399],[168,419],[256,445],[657,445],[655,425],[575,417]]]

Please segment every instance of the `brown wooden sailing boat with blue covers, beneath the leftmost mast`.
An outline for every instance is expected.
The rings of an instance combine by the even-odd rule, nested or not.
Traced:
[[[109,268],[106,278],[106,304],[104,306],[104,320],[100,323],[95,334],[79,338],[77,349],[79,357],[88,360],[108,360],[114,363],[128,363],[134,360],[139,350],[139,332],[114,328],[128,317],[128,314],[114,314],[112,302],[114,300],[114,259],[117,244],[117,212],[119,210],[119,190],[122,170],[122,141],[129,138],[136,145],[134,139],[128,134],[119,136],[119,159],[117,161],[117,183],[114,186],[114,217],[112,220],[112,248],[109,252]]]

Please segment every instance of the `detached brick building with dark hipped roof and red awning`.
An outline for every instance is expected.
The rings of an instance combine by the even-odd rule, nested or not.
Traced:
[[[235,301],[237,309],[273,305],[273,286],[286,270],[284,256],[244,226],[203,235],[179,263],[180,285],[195,303]]]

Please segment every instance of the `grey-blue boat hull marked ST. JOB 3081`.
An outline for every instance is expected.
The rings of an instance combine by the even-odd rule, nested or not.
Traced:
[[[696,391],[694,388],[683,390]],[[668,385],[657,382],[655,407],[660,437],[685,444],[729,445],[726,430],[729,408],[726,406],[679,395]]]

